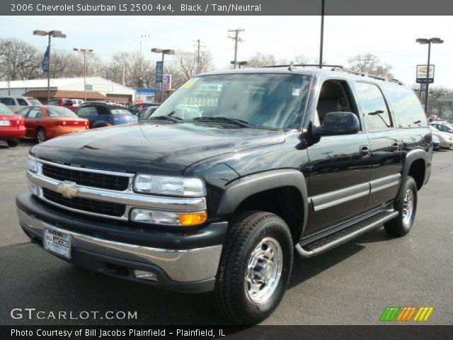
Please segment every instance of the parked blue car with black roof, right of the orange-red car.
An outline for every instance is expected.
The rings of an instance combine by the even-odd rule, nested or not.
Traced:
[[[94,102],[81,106],[76,115],[90,121],[90,128],[103,128],[111,125],[137,123],[137,117],[123,106]]]

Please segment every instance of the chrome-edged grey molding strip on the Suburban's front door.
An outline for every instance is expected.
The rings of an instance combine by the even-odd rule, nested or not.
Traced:
[[[355,200],[369,194],[369,183],[362,183],[356,186],[350,186],[330,193],[321,193],[321,195],[309,198],[314,211],[331,208],[333,205]]]

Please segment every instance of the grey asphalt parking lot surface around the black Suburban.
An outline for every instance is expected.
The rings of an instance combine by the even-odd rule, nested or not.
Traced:
[[[14,200],[28,190],[25,159],[31,146],[0,146],[0,324],[225,323],[209,293],[173,293],[91,273],[30,244]],[[453,324],[452,170],[453,151],[435,152],[406,237],[391,238],[379,228],[313,259],[296,259],[282,303],[263,324],[379,324],[387,306],[432,306],[425,324]],[[137,311],[137,319],[12,319],[13,308]]]

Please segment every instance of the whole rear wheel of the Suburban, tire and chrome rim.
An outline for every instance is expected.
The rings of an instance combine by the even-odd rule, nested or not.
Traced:
[[[411,205],[410,209],[408,204]],[[399,215],[393,220],[384,223],[384,229],[387,234],[401,237],[411,231],[415,212],[417,211],[417,185],[411,176],[408,176],[404,182],[394,207]]]

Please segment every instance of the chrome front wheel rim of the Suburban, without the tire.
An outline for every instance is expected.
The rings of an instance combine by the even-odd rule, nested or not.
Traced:
[[[257,304],[265,303],[275,292],[283,268],[283,251],[273,237],[265,237],[248,259],[245,288],[247,297]]]

